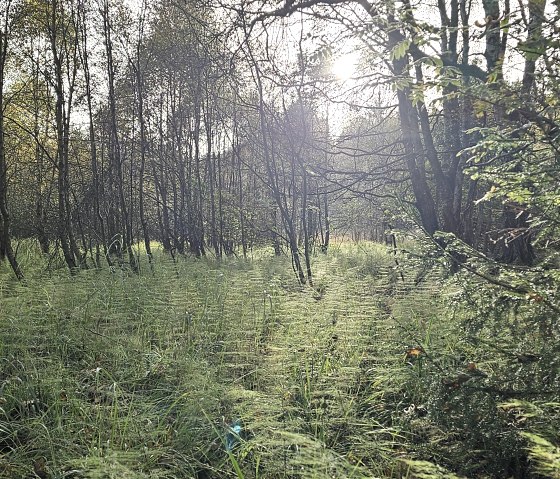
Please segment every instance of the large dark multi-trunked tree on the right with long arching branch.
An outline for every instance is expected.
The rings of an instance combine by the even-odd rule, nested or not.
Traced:
[[[435,15],[428,17],[409,1],[399,10],[393,2],[367,0],[310,0],[289,2],[279,8],[267,5],[239,4],[237,11],[249,25],[248,33],[257,25],[272,25],[278,18],[305,11],[307,18],[316,22],[341,25],[347,38],[365,43],[381,60],[368,69],[368,81],[371,83],[374,77],[380,84],[389,81],[393,85],[401,156],[419,224],[430,236],[443,230],[481,246],[473,231],[483,221],[475,216],[482,210],[474,208],[474,201],[486,185],[465,174],[467,152],[480,138],[480,128],[535,121],[539,116],[531,103],[516,111],[509,105],[512,95],[527,99],[534,85],[535,65],[543,51],[542,26],[547,23],[545,4],[530,2],[512,11],[508,1],[503,6],[497,1],[483,1],[480,6],[485,20],[474,25],[472,9],[458,0],[438,2],[431,11]],[[549,22],[552,26],[555,20],[550,18]],[[519,86],[503,73],[507,56],[516,49],[512,33],[527,38],[519,43],[518,50],[537,52],[531,58],[526,56]],[[476,37],[483,39],[481,50],[480,43],[472,41]],[[433,48],[436,39],[439,46]],[[486,60],[484,68],[473,62],[477,53]],[[439,101],[430,105],[426,98],[434,94],[439,95]],[[523,215],[512,217],[511,210],[506,209],[500,221],[504,231],[512,231],[525,220]],[[438,241],[443,241],[441,238]],[[505,261],[532,260],[530,241],[502,242],[502,246]]]

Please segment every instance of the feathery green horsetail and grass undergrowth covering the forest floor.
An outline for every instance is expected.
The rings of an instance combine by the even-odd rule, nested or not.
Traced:
[[[501,384],[511,358],[438,267],[396,262],[381,245],[334,245],[313,258],[310,287],[264,250],[222,261],[158,251],[139,275],[72,276],[30,247],[20,255],[25,284],[0,269],[0,477],[533,477],[520,471],[554,467],[529,453],[557,453],[539,435],[555,427],[554,397],[500,394],[542,364],[515,363],[518,383]],[[502,335],[509,352],[519,338]]]

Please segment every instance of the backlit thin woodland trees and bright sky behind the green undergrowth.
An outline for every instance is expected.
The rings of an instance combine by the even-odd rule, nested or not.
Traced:
[[[404,249],[418,284],[442,268],[462,305],[499,313],[491,331],[464,312],[465,342],[533,328],[534,357],[552,357],[559,5],[0,0],[0,267],[25,284],[30,244],[76,278],[156,274],[160,249],[179,264],[270,248],[320,304],[333,243],[376,241],[395,278]],[[532,400],[511,383],[484,402],[492,424],[496,397]],[[529,477],[532,458],[502,472]]]

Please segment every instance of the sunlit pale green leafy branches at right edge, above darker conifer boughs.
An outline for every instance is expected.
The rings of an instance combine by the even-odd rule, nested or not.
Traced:
[[[481,141],[467,153],[473,178],[490,185],[478,201],[499,201],[515,215],[526,216],[524,228],[503,231],[506,242],[519,236],[534,241],[542,250],[541,261],[547,257],[551,267],[557,261],[560,170],[558,139],[549,129],[529,122],[520,128],[478,130]]]

